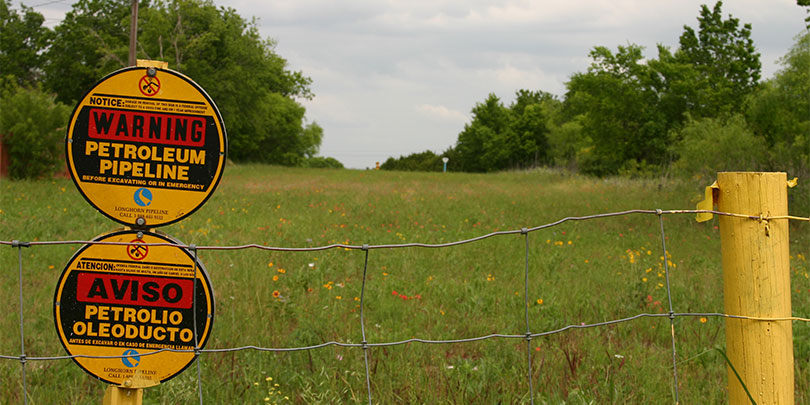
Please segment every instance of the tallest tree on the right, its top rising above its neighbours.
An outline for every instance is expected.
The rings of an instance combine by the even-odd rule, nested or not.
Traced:
[[[697,75],[689,75],[686,92],[688,111],[694,117],[718,117],[742,111],[740,100],[757,87],[761,63],[751,39],[751,24],[729,15],[723,19],[723,3],[713,9],[700,8],[698,30],[684,26],[675,54],[678,62],[691,65]]]

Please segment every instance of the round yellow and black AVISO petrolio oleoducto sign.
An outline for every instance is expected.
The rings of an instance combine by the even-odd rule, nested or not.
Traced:
[[[183,248],[143,245],[177,243],[163,235],[119,231],[94,241],[127,245],[84,245],[65,266],[54,297],[65,350],[109,384],[143,388],[179,374],[193,352],[148,353],[205,346],[214,321],[205,269]]]

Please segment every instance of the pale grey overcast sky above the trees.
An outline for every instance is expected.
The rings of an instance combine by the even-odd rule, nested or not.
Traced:
[[[54,26],[72,1],[23,3]],[[441,153],[489,93],[505,104],[519,89],[562,96],[571,74],[587,69],[594,46],[635,43],[655,58],[656,44],[674,49],[683,26],[697,26],[701,4],[714,6],[699,0],[214,3],[256,17],[290,68],[312,78],[315,98],[302,102],[308,120],[324,129],[320,155],[349,168],[426,149]],[[779,69],[777,60],[804,27],[804,8],[795,0],[726,1],[723,13],[753,25],[763,78]]]

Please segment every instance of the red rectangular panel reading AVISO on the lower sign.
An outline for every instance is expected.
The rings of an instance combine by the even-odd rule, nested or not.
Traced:
[[[81,302],[191,308],[194,281],[124,274],[78,274],[76,299]]]

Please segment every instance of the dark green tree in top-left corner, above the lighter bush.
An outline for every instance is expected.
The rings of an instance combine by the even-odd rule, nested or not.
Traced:
[[[19,85],[30,86],[42,76],[43,51],[52,32],[42,26],[45,17],[22,6],[21,12],[11,2],[0,0],[0,77],[11,76]]]

